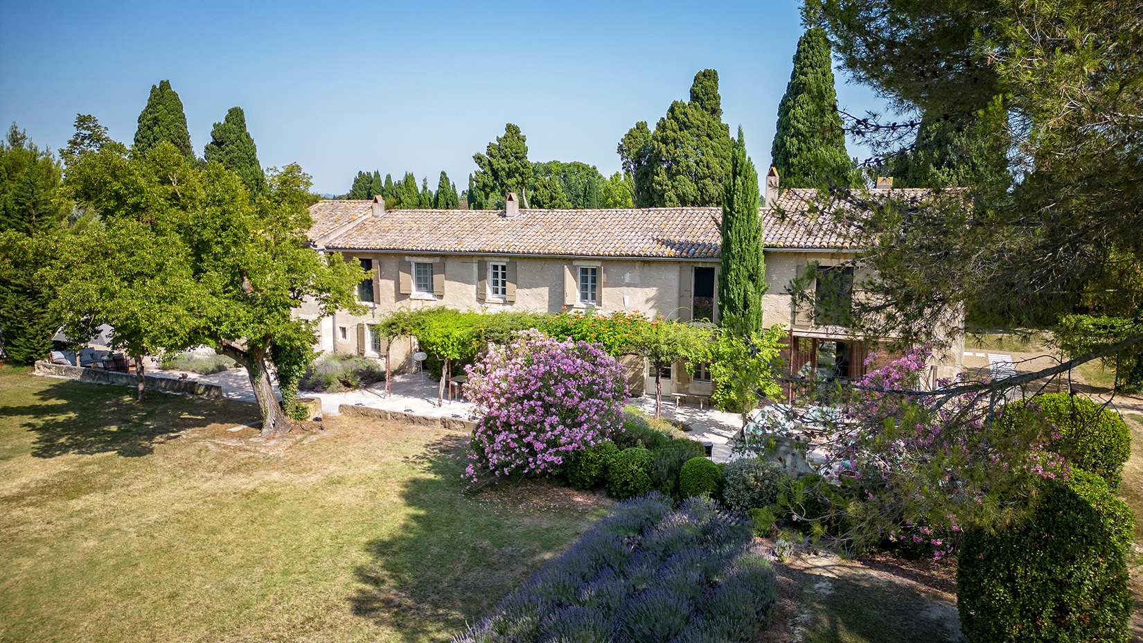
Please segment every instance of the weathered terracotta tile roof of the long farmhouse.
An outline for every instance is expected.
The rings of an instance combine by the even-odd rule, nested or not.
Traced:
[[[878,192],[871,190],[872,198]],[[894,190],[894,196],[909,190]],[[927,192],[917,190],[917,192]],[[847,249],[848,231],[814,205],[816,190],[782,192],[762,209],[767,249]],[[338,204],[322,206],[322,204]],[[320,201],[313,209],[369,213],[369,201]],[[327,214],[328,213],[328,214]],[[409,253],[525,254],[592,257],[718,259],[722,211],[718,207],[628,209],[387,211],[365,216],[330,239],[329,249]],[[319,216],[314,216],[317,221]]]

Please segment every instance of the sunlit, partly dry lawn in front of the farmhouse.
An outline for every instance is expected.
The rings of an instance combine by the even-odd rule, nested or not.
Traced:
[[[470,497],[464,437],[0,367],[0,641],[447,641],[602,515]]]

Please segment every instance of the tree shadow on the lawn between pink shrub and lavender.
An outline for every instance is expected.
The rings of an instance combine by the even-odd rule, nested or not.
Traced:
[[[610,503],[529,482],[466,494],[467,442],[445,436],[410,459],[423,471],[401,491],[413,513],[355,572],[353,613],[406,641],[447,640],[483,617]]]

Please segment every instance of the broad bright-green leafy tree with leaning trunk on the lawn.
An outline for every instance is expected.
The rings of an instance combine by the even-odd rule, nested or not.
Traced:
[[[360,310],[361,269],[305,241],[315,199],[309,176],[296,165],[271,169],[265,193],[251,200],[237,174],[200,168],[161,142],[145,152],[104,145],[81,153],[65,188],[101,223],[51,269],[54,307],[77,335],[110,323],[115,343],[135,355],[214,346],[246,367],[263,435],[287,430],[269,367],[277,366],[288,407],[297,364],[273,359],[305,359],[315,340],[312,324],[290,310],[303,297],[327,313]]]

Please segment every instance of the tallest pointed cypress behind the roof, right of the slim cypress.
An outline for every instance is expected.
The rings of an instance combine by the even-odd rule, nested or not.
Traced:
[[[830,41],[821,27],[809,29],[798,40],[770,156],[785,188],[856,183],[838,114]]]

